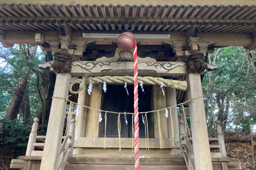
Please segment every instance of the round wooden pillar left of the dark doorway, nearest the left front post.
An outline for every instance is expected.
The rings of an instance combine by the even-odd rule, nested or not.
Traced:
[[[85,127],[87,119],[87,108],[83,107],[88,106],[88,93],[87,93],[88,84],[84,84],[84,89],[81,90],[78,94],[78,111],[79,114],[76,117],[76,130],[75,130],[75,140],[85,137]],[[73,154],[83,154],[83,148],[74,148]]]

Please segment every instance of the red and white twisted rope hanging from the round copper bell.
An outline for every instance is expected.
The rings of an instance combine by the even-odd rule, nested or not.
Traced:
[[[135,170],[140,169],[139,157],[139,106],[138,106],[138,59],[137,59],[137,42],[134,37],[133,45],[133,69],[134,69],[134,153],[135,153]]]

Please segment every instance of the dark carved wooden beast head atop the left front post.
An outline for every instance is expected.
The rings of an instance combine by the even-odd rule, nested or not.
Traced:
[[[55,73],[68,73],[71,72],[71,56],[67,51],[60,50],[54,54],[54,63],[52,67]]]

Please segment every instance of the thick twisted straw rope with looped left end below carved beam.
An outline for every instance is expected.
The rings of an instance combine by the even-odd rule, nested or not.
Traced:
[[[134,78],[133,76],[96,76],[96,77],[90,77],[88,75],[84,75],[83,79],[78,79],[76,81],[72,81],[70,83],[69,86],[69,91],[72,94],[78,94],[82,89],[84,89],[85,84],[98,84],[98,83],[102,83],[106,82],[108,84],[124,84],[124,82],[126,83],[130,83],[133,84],[134,83]],[[180,80],[172,80],[172,79],[164,79],[162,77],[149,77],[149,76],[145,76],[145,77],[140,77],[138,76],[138,83],[140,84],[140,82],[143,82],[144,84],[151,84],[151,85],[159,85],[161,86],[161,82],[163,82],[164,87],[171,87],[171,88],[175,88],[175,89],[180,89],[185,91],[187,89],[187,81],[180,81]],[[78,91],[73,91],[72,87],[74,84],[79,84],[80,83],[80,88]]]

